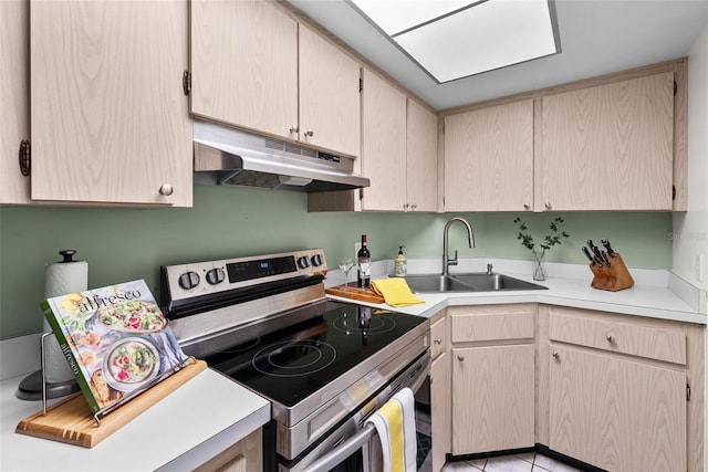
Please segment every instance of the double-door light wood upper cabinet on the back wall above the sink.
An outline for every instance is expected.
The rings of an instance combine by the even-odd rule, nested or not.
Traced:
[[[687,202],[687,61],[440,112],[445,211],[668,211]]]

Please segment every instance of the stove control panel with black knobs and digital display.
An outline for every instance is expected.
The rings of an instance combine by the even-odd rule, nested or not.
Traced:
[[[162,268],[171,300],[216,294],[301,275],[326,274],[322,249]]]

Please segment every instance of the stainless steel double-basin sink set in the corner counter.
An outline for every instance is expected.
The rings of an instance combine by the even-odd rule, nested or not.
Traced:
[[[461,274],[420,274],[406,275],[408,286],[414,293],[441,292],[503,292],[514,290],[548,290],[546,286],[525,282],[503,274],[486,272]]]

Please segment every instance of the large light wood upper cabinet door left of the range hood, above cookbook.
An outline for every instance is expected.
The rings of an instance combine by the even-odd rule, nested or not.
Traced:
[[[38,0],[30,31],[32,199],[190,206],[186,0]]]

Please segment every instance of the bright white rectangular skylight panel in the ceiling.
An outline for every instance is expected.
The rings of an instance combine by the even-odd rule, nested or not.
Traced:
[[[439,83],[560,52],[552,0],[350,0]]]

